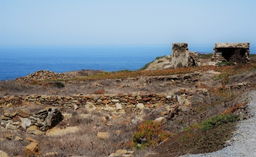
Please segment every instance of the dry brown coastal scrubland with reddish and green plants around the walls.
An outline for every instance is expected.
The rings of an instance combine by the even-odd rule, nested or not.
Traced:
[[[210,55],[202,56],[202,59],[207,59]],[[83,107],[76,110],[73,107],[61,108],[63,120],[45,135],[1,130],[0,150],[4,150],[10,156],[24,156],[26,141],[6,138],[7,134],[12,134],[21,139],[33,137],[38,140],[42,154],[55,152],[52,156],[110,156],[118,149],[135,151],[134,156],[179,156],[187,153],[214,152],[226,145],[225,142],[236,129],[237,121],[248,118],[246,117],[248,101],[245,94],[256,89],[256,63],[253,60],[254,56],[251,57],[252,62],[246,65],[154,71],[82,70],[68,72],[69,77],[66,79],[1,81],[1,99],[11,95],[18,97],[32,94],[71,96],[80,93],[104,95],[149,92],[188,95],[191,96],[191,103],[179,104],[176,116],[168,114],[165,123],[157,124],[154,120],[164,117],[163,111],[168,105],[145,107],[139,113],[124,114],[117,111],[89,111]],[[192,83],[188,83],[185,79],[191,73],[199,73],[199,75]],[[185,79],[170,84],[171,79],[160,77],[170,75],[175,75],[177,78],[185,76]],[[238,84],[242,85],[235,88],[234,86]],[[198,88],[207,90],[207,94],[191,92]],[[183,89],[189,92],[186,93]],[[192,93],[193,95],[190,95]],[[2,106],[0,116],[4,115],[4,111],[14,112],[24,107],[31,112],[45,108],[33,102],[23,102],[13,107]],[[97,137],[99,132],[107,132],[110,135],[107,139],[101,139]]]

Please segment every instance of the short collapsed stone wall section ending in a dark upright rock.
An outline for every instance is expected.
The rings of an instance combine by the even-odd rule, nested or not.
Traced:
[[[13,113],[4,111],[1,120],[1,130],[18,129],[33,134],[45,134],[48,129],[56,126],[62,120],[62,115],[58,108],[48,108],[33,114],[23,108]]]

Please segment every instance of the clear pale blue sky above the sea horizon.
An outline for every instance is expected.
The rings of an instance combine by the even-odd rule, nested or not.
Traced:
[[[0,47],[249,42],[255,0],[0,0]],[[213,46],[212,46],[213,45]]]

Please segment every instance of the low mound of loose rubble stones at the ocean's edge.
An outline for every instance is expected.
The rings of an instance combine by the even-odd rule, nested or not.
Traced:
[[[65,79],[67,76],[64,73],[55,73],[52,71],[37,71],[35,73],[30,73],[30,75],[24,76],[22,78],[17,78],[18,81],[42,81],[44,79]]]

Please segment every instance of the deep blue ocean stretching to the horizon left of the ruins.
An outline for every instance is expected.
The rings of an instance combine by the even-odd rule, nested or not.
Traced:
[[[57,73],[82,69],[141,69],[170,46],[7,47],[0,49],[0,80],[13,80],[39,70]]]

